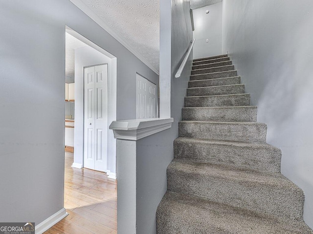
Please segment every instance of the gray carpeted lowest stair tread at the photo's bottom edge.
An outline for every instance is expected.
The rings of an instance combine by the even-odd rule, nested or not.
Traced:
[[[244,209],[167,191],[157,208],[157,233],[312,234],[301,221],[259,215]]]

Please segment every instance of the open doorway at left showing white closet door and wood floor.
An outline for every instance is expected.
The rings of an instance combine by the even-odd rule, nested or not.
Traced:
[[[95,66],[99,64],[102,65]],[[85,130],[85,122],[88,119],[88,111],[86,113],[85,110],[86,107],[88,110],[86,95],[88,97],[89,90],[87,89],[86,92],[87,84],[84,83],[86,77],[88,80],[88,74],[85,75],[84,70],[92,66],[94,69],[102,67],[101,71],[94,71],[93,78],[103,83],[101,87],[97,86],[93,89],[95,96],[92,104],[96,103],[98,109],[92,109],[90,112],[97,117],[92,124],[95,124],[99,117],[103,121],[101,128],[93,130],[95,134],[89,142],[90,134],[88,135],[88,131],[86,134]],[[116,120],[116,69],[114,56],[66,27],[64,207],[69,215],[51,228],[54,228],[54,231],[103,233],[103,230],[107,230],[108,233],[116,232],[116,140],[113,132],[109,131],[110,123]],[[98,102],[95,102],[96,98]],[[101,159],[101,167],[90,167],[87,160],[90,156],[84,159],[86,142],[93,146],[95,158]],[[71,225],[68,225],[67,219],[71,219]],[[53,233],[51,229],[47,233],[49,231]]]

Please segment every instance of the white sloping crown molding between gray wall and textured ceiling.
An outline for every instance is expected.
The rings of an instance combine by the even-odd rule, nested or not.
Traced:
[[[112,28],[107,25],[97,14],[95,14],[88,6],[85,5],[81,0],[70,0],[75,6],[77,6],[81,11],[83,11],[87,16],[90,17],[91,20],[95,21],[100,27],[106,30],[114,39],[120,42],[126,49],[128,49],[135,57],[141,60],[144,64],[146,64],[152,71],[159,75],[159,71],[148,62],[140,53],[138,53],[132,46],[128,44],[128,42],[120,37],[117,33],[115,33]]]

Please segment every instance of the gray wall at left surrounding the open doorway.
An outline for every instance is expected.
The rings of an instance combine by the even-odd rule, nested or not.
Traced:
[[[157,75],[68,0],[0,3],[0,220],[63,208],[65,25],[117,57],[117,119],[135,118],[135,74]]]

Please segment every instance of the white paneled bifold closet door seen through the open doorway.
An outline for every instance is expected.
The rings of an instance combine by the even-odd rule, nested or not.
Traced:
[[[84,68],[84,167],[107,170],[108,65]]]

